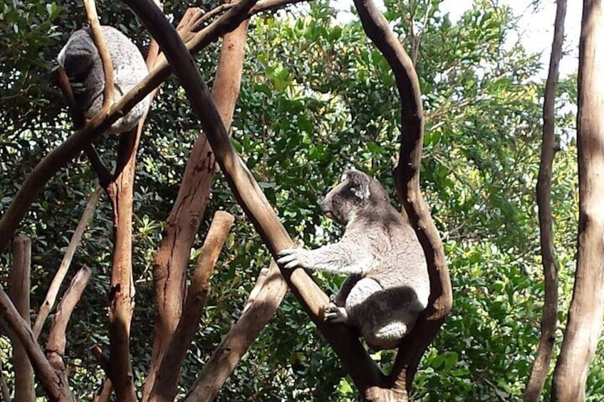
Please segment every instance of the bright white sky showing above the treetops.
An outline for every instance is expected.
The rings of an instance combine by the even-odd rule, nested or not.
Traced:
[[[377,4],[383,1],[374,0]],[[449,13],[452,22],[457,22],[464,11],[472,7],[473,0],[444,0],[440,11]],[[546,78],[553,40],[553,20],[556,16],[556,1],[543,0],[540,8],[533,12],[529,0],[499,0],[499,4],[511,6],[516,16],[521,16],[519,36],[525,48],[531,53],[541,53],[543,70],[541,78]],[[578,43],[580,33],[582,1],[570,0],[566,6],[565,41],[563,56],[560,63],[561,77],[576,72],[578,67]],[[333,5],[341,10],[340,18],[348,21],[356,16],[348,13],[353,6],[352,0],[336,0]]]

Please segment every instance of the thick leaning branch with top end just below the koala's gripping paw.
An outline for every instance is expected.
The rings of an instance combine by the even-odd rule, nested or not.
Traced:
[[[184,402],[214,401],[224,381],[275,314],[286,292],[287,283],[272,261],[269,269],[261,270],[241,317],[214,349]]]

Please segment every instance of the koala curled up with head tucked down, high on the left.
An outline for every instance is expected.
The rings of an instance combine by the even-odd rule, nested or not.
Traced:
[[[101,26],[101,31],[113,63],[114,100],[118,100],[145,78],[149,70],[140,51],[127,36],[112,26]],[[90,35],[90,27],[75,31],[57,56],[71,83],[75,102],[87,119],[97,115],[103,107],[105,89],[103,62]],[[108,132],[125,132],[134,127],[147,110],[149,99],[147,96],[132,107]]]

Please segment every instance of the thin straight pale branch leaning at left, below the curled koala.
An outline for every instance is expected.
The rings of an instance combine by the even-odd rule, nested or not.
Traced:
[[[44,326],[44,322],[46,321],[46,317],[50,314],[53,305],[55,304],[56,297],[58,295],[58,290],[61,288],[61,284],[63,283],[63,279],[65,279],[65,275],[67,275],[67,271],[69,270],[69,266],[71,265],[71,260],[73,259],[73,255],[75,254],[75,249],[78,248],[80,244],[80,240],[82,240],[82,236],[84,231],[86,230],[86,226],[90,222],[90,218],[93,216],[95,211],[96,204],[100,199],[101,194],[103,194],[103,189],[97,187],[95,192],[90,196],[86,207],[82,213],[82,217],[78,222],[78,226],[75,228],[73,235],[71,235],[71,240],[69,240],[69,245],[67,246],[67,250],[65,255],[63,255],[63,260],[61,261],[61,265],[53,277],[53,281],[51,285],[48,287],[48,292],[46,292],[46,297],[44,298],[44,302],[42,303],[40,310],[38,311],[38,315],[36,315],[36,323],[33,324],[33,339],[38,339],[40,336],[40,332],[42,331],[42,327]]]

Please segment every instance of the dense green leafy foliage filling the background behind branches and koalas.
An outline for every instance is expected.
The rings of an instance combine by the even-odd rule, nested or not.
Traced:
[[[440,0],[412,3],[387,1],[386,16],[417,60],[426,111],[422,188],[444,240],[454,289],[454,309],[420,365],[413,397],[517,400],[531,371],[543,304],[535,201],[543,66],[536,55],[511,43],[516,18],[496,1],[477,0],[457,22],[438,11]],[[165,2],[175,19],[184,6]],[[141,48],[147,46],[130,11],[112,1],[100,1],[98,7],[103,23],[118,26]],[[254,18],[233,123],[236,149],[289,233],[309,247],[338,236],[339,229],[316,206],[346,167],[357,166],[393,188],[390,169],[399,135],[400,105],[387,63],[355,18],[344,22],[334,17],[326,2],[317,1],[303,10]],[[83,21],[78,1],[0,5],[0,210],[41,157],[70,133],[60,92],[48,80],[54,55]],[[210,83],[216,50],[199,55]],[[575,79],[561,84],[556,123],[562,150],[554,166],[553,208],[563,324],[575,265],[577,191],[573,115],[563,112],[576,99]],[[177,82],[169,80],[152,107],[137,165],[132,361],[139,385],[152,344],[150,263],[200,128]],[[115,137],[98,142],[106,161],[114,157],[116,144]],[[80,157],[48,184],[21,225],[20,233],[33,239],[31,298],[36,310],[95,183],[88,162]],[[191,262],[217,209],[234,213],[236,223],[183,366],[183,392],[239,316],[259,269],[269,263],[261,239],[221,176]],[[68,329],[66,363],[82,398],[90,398],[103,377],[88,348],[108,344],[111,250],[110,209],[102,199],[73,263],[74,268],[93,269],[93,281]],[[1,258],[6,285],[9,259]],[[315,275],[332,292],[343,280]],[[557,346],[560,340],[558,331]],[[0,351],[10,382],[11,349],[4,335]],[[375,354],[375,359],[387,367],[392,354]],[[588,396],[603,401],[602,351],[592,367]],[[288,295],[219,397],[323,401],[354,398],[355,391],[352,381],[342,378],[333,351]]]

